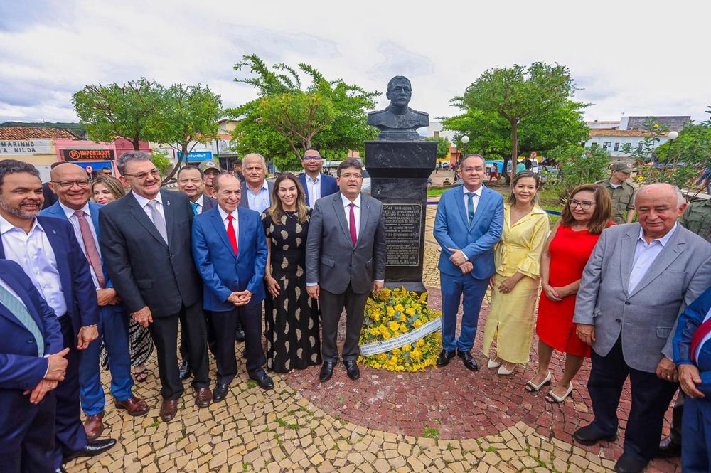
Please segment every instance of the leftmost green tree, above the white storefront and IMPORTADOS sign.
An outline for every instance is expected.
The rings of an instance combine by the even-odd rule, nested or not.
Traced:
[[[72,104],[92,139],[112,142],[117,137],[132,142],[159,141],[151,134],[163,87],[141,78],[119,85],[87,85],[72,96]]]

